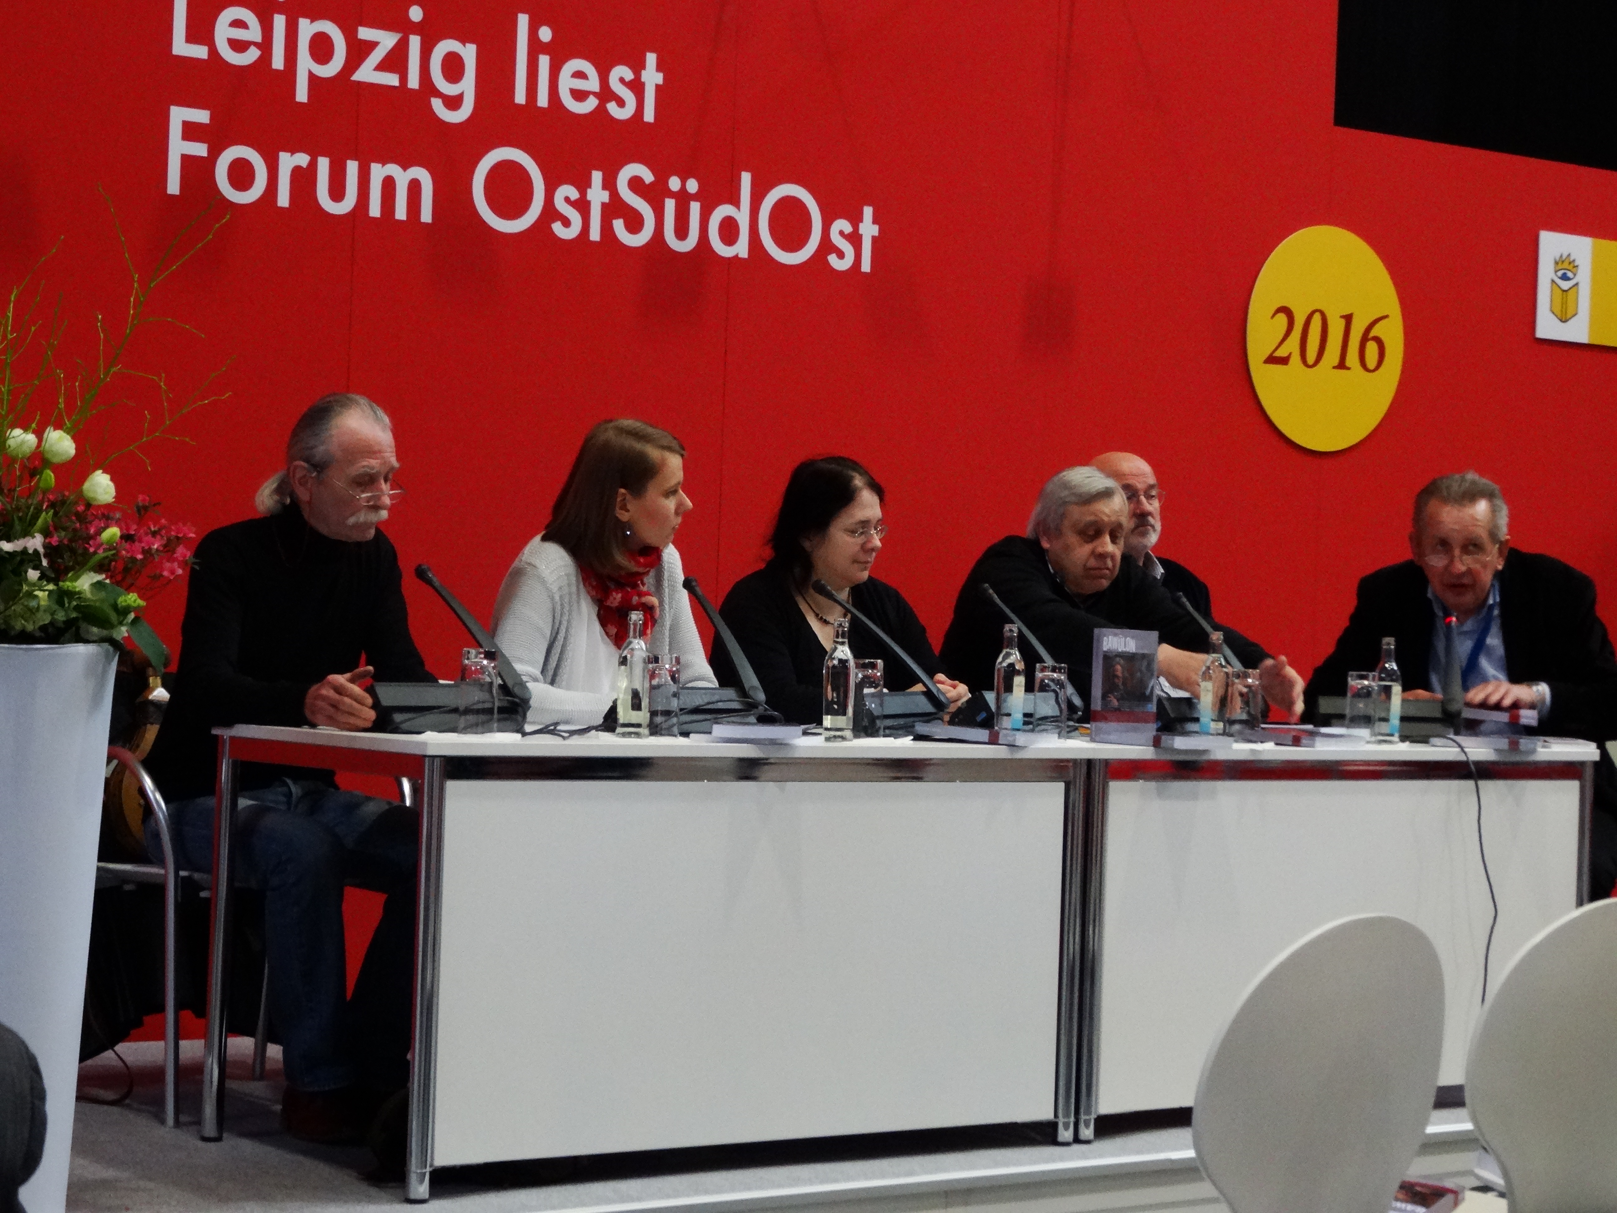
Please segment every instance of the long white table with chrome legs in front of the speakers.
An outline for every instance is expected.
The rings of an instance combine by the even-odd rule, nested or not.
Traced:
[[[433,1166],[508,1158],[1046,1119],[1088,1139],[1100,1113],[1188,1103],[1250,977],[1353,909],[1405,914],[1470,980],[1475,801],[1452,750],[1197,759],[241,726],[220,802],[239,762],[419,781],[406,1195],[425,1200]],[[1496,972],[1575,904],[1593,760],[1481,765]],[[1263,888],[1274,864],[1316,875]]]

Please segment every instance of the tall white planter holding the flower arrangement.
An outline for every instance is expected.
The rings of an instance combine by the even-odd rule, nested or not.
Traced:
[[[0,1022],[39,1058],[50,1121],[29,1213],[68,1198],[116,665],[105,644],[0,644]]]

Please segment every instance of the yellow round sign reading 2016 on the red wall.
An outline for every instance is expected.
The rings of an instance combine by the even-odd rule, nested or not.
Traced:
[[[1247,304],[1247,367],[1298,446],[1340,451],[1376,429],[1404,370],[1404,312],[1376,251],[1324,225],[1281,241]]]

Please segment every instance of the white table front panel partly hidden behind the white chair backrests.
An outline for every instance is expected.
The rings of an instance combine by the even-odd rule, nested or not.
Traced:
[[[1577,906],[1578,784],[1481,786],[1497,980]],[[1439,1082],[1463,1082],[1492,914],[1470,780],[1112,783],[1098,1111],[1188,1106],[1214,1032],[1258,972],[1310,930],[1363,912],[1405,917],[1438,946]]]

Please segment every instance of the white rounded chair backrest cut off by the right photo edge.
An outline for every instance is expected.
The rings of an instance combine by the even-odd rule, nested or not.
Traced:
[[[1512,1213],[1617,1208],[1617,901],[1515,954],[1471,1033],[1465,1103]]]

